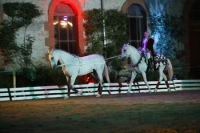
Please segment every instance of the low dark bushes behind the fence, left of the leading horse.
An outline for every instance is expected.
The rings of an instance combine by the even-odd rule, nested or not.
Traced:
[[[16,72],[17,87],[66,85],[66,78],[60,68],[38,66],[34,69],[23,68]],[[0,88],[13,87],[13,75],[11,72],[0,74]]]

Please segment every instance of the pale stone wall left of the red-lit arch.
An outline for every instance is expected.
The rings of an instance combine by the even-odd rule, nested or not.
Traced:
[[[35,4],[38,9],[41,11],[42,15],[35,18],[33,23],[30,24],[27,28],[26,34],[30,34],[35,38],[33,43],[33,53],[32,61],[36,65],[45,65],[47,64],[46,53],[48,46],[45,44],[45,38],[48,37],[48,31],[45,29],[45,24],[48,22],[48,0],[2,0],[3,3],[8,2],[30,2]],[[24,27],[20,28],[16,32],[16,42],[21,44],[24,38]]]

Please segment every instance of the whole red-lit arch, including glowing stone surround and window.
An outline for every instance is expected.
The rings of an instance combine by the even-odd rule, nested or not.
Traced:
[[[83,11],[78,0],[52,0],[48,11],[49,47],[83,55]]]

